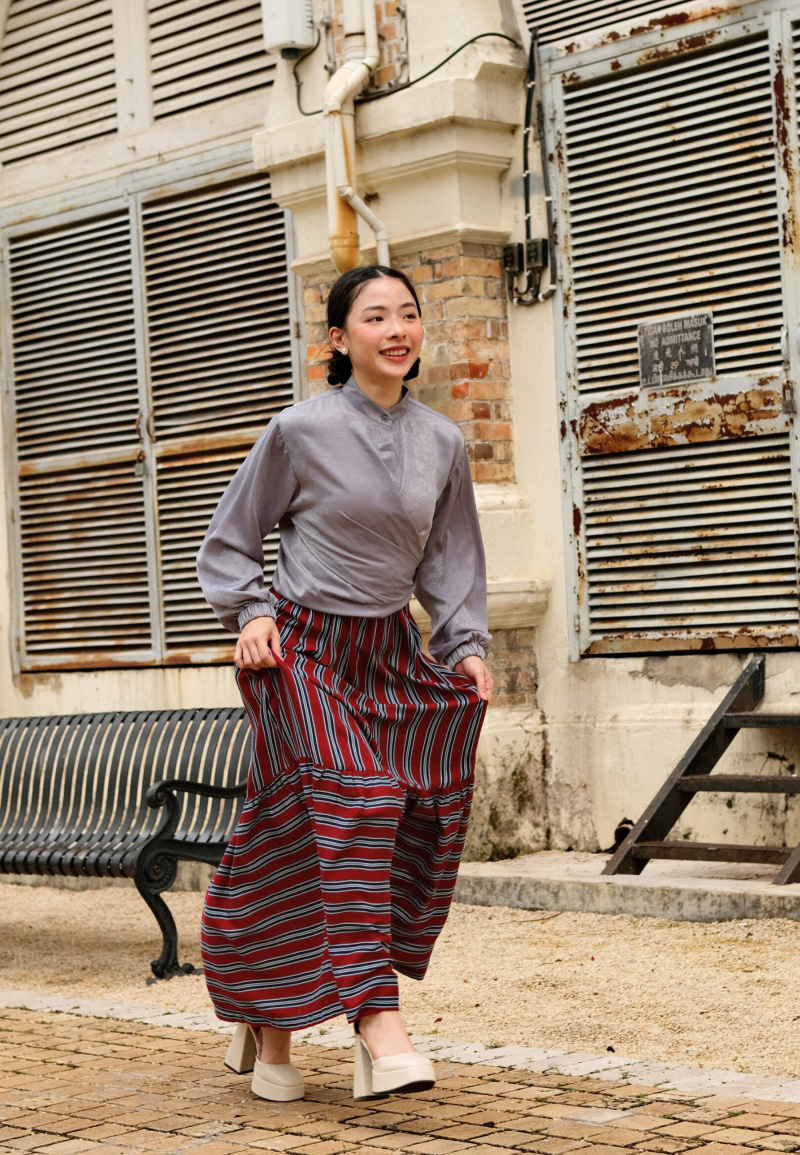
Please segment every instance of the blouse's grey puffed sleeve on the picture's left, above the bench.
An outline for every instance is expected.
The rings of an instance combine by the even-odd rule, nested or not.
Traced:
[[[197,553],[197,579],[226,629],[274,618],[264,589],[263,538],[278,524],[297,489],[279,418],[274,417],[223,493]]]

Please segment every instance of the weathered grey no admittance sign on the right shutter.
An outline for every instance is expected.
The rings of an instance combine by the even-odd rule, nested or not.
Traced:
[[[676,313],[640,325],[638,374],[643,388],[715,377],[713,314]]]

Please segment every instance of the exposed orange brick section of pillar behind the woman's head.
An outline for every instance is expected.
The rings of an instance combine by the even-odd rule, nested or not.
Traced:
[[[449,245],[401,256],[423,306],[425,348],[412,394],[457,422],[476,482],[514,480],[508,321],[501,251]],[[326,301],[334,277],[304,290],[309,392],[327,387]]]

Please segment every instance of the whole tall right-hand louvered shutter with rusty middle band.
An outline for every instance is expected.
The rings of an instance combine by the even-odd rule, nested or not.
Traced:
[[[776,62],[742,33],[551,89],[584,654],[798,644]],[[717,377],[640,388],[637,325],[701,310]]]

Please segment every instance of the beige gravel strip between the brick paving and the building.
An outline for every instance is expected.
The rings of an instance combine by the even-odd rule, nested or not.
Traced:
[[[200,961],[202,895],[170,906]],[[135,891],[0,885],[0,986],[207,1011],[200,976],[145,984],[160,939]],[[800,1076],[800,924],[454,906],[412,1033]]]

